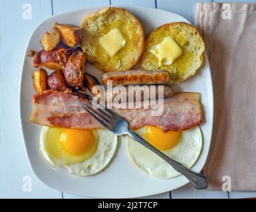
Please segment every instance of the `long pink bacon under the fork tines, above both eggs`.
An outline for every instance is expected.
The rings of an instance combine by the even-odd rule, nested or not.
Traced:
[[[114,109],[126,119],[130,129],[146,125],[160,127],[163,131],[180,131],[203,123],[200,93],[176,93],[164,99],[164,112],[151,116],[152,109]],[[31,121],[39,125],[72,129],[103,128],[82,105],[84,99],[59,91],[48,90],[33,96]]]

